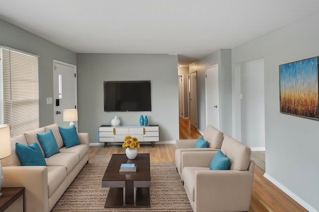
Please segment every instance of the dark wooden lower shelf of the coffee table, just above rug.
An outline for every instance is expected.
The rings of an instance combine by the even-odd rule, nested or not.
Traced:
[[[110,188],[104,208],[150,208],[150,188],[136,188],[136,203],[124,204],[123,188]],[[132,200],[133,201],[133,200]]]

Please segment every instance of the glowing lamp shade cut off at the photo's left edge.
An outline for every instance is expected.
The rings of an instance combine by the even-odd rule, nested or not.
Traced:
[[[10,127],[0,124],[0,159],[11,154]]]

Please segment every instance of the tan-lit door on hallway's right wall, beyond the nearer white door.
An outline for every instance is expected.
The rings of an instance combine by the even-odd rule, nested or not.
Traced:
[[[190,73],[189,118],[190,124],[197,129],[197,71]]]

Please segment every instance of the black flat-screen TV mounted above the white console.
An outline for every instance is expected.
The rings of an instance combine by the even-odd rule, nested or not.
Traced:
[[[151,111],[151,81],[104,81],[104,111]]]

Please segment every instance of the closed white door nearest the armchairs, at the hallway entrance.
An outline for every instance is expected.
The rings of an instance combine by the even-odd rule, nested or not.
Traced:
[[[218,64],[206,68],[206,125],[219,129]]]

